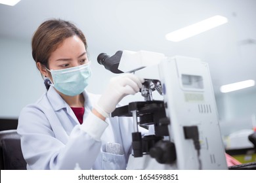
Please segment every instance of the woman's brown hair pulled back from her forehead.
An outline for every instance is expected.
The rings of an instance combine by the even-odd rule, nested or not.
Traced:
[[[45,67],[49,67],[48,59],[68,37],[77,35],[87,50],[87,41],[83,32],[74,24],[68,21],[53,19],[41,24],[35,31],[32,38],[32,56],[35,63],[39,62]]]

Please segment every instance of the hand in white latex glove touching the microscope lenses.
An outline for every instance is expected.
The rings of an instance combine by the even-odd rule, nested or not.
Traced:
[[[123,97],[139,92],[143,82],[144,79],[131,73],[111,78],[106,90],[94,108],[105,118],[108,117]]]

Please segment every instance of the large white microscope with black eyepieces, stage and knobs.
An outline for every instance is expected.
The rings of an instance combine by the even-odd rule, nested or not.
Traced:
[[[228,169],[207,63],[127,50],[99,54],[97,60],[113,73],[145,79],[140,91],[145,101],[112,112],[135,121],[127,169]],[[152,98],[155,90],[163,100]],[[142,137],[138,125],[150,125],[154,134]]]

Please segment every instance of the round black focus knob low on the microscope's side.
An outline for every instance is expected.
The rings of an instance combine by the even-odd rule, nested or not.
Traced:
[[[150,156],[158,163],[173,163],[176,160],[175,144],[170,141],[159,141],[150,149]]]

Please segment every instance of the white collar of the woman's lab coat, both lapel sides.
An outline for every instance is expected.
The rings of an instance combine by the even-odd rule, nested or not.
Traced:
[[[69,110],[68,104],[62,99],[62,97],[56,92],[53,86],[50,86],[47,97],[51,103],[54,111],[60,110],[61,108],[67,108]],[[83,91],[83,97],[85,97],[85,106],[92,108],[91,101],[89,100],[88,93]]]

